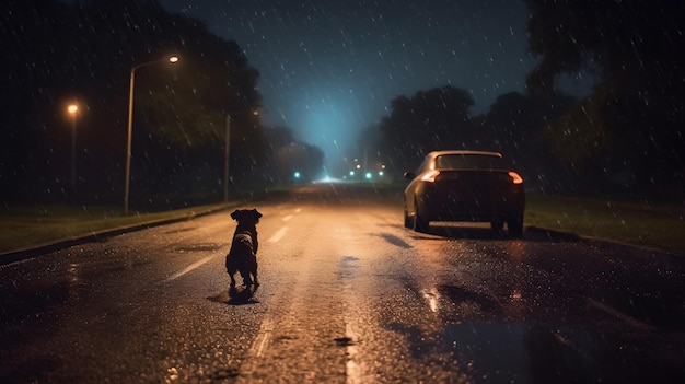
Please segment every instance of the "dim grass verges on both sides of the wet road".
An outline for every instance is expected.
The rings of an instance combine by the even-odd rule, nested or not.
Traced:
[[[529,194],[525,226],[648,246],[685,256],[685,207]],[[225,203],[123,217],[119,207],[0,208],[0,253],[56,240],[188,218]]]

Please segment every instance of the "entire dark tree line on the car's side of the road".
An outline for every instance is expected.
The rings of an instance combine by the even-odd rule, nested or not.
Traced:
[[[471,116],[452,86],[399,96],[375,129],[378,155],[397,170],[438,149],[499,150],[532,185],[561,193],[683,199],[685,3],[526,0],[531,53],[524,94]],[[591,73],[592,92],[559,92],[562,74]]]

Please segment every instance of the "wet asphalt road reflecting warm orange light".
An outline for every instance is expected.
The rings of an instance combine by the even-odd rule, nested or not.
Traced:
[[[1,266],[0,382],[685,382],[683,258],[415,233],[385,189],[253,207],[256,290],[229,295],[230,211]]]

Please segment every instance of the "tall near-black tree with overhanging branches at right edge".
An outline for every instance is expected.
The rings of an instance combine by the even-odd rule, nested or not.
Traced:
[[[554,92],[558,75],[580,70],[599,78],[588,100],[550,125],[548,137],[559,156],[581,175],[628,168],[636,186],[652,185],[647,193],[663,195],[674,177],[682,179],[685,163],[685,58],[680,54],[685,3],[526,2],[531,51],[541,57],[529,88]]]

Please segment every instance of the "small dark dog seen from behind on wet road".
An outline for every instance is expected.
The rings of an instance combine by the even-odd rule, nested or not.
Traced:
[[[257,280],[257,223],[262,213],[256,209],[236,209],[231,218],[237,221],[233,233],[231,251],[225,256],[225,269],[231,277],[231,288],[235,287],[235,274],[240,272],[244,286],[259,286]],[[252,278],[251,278],[252,276]]]

